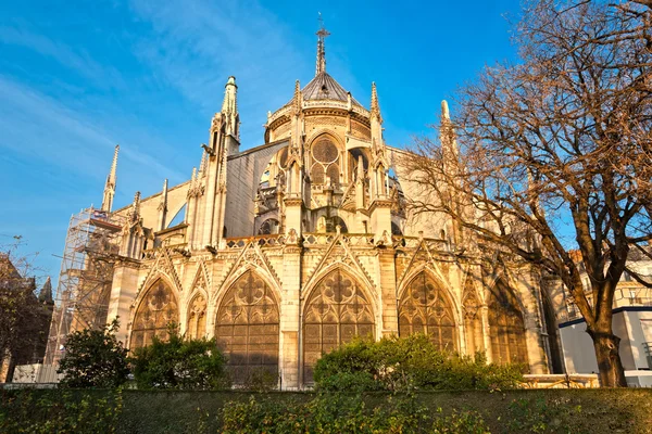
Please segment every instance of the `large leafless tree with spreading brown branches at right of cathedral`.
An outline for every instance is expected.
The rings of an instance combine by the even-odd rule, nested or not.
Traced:
[[[651,23],[645,1],[526,5],[514,28],[521,61],[464,86],[440,140],[417,140],[404,162],[422,193],[414,213],[443,213],[478,243],[563,281],[605,386],[627,385],[612,330],[616,285],[625,271],[649,285],[628,255],[650,256],[652,240]]]

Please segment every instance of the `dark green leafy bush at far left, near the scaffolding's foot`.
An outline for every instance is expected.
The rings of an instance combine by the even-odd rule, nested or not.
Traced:
[[[71,333],[65,344],[59,373],[67,387],[118,387],[127,381],[129,365],[127,349],[115,339],[120,328],[113,320],[102,330],[82,330]]]

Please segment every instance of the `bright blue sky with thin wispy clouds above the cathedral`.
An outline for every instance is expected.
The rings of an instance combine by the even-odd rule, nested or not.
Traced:
[[[116,207],[189,178],[229,75],[241,149],[262,144],[267,111],[314,75],[318,11],[327,71],[366,106],[376,81],[392,145],[515,54],[516,0],[0,2],[0,245],[22,235],[57,281],[70,217],[100,205],[114,145]]]

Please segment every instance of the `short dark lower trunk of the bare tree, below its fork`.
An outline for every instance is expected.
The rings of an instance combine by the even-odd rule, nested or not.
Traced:
[[[600,385],[602,387],[627,387],[625,369],[618,353],[620,337],[613,334],[611,330],[606,332],[587,330],[587,333],[593,340],[595,359],[600,371]]]

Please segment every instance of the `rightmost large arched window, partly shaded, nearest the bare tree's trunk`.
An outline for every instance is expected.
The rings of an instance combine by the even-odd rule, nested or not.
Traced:
[[[493,362],[527,363],[523,314],[503,280],[499,280],[489,294],[489,336]]]

